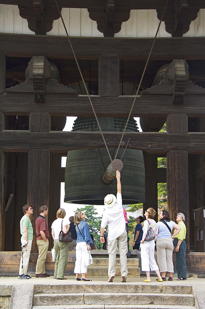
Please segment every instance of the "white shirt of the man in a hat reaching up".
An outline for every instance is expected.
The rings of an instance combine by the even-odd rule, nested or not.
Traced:
[[[125,231],[125,218],[122,208],[122,196],[120,193],[117,193],[116,203],[110,208],[105,208],[101,227],[105,228],[106,225],[108,226],[109,240],[116,239]]]

